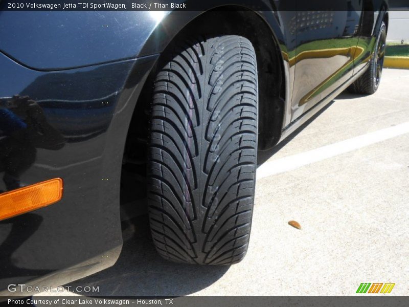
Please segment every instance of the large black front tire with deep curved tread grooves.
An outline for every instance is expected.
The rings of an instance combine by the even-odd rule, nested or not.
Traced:
[[[248,246],[257,161],[257,65],[246,38],[175,43],[156,75],[148,207],[166,259],[230,265]]]

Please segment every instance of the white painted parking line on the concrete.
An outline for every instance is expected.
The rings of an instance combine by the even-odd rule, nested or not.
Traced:
[[[377,130],[338,143],[301,152],[297,155],[284,157],[271,162],[266,162],[257,168],[256,179],[258,180],[278,173],[297,169],[304,165],[332,158],[337,155],[342,155],[342,153],[388,140],[406,133],[409,133],[409,122]]]

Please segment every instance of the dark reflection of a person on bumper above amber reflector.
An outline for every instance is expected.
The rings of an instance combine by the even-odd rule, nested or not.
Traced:
[[[36,148],[57,150],[65,141],[28,96],[15,95],[7,104],[12,107],[0,109],[0,173],[4,172],[6,190],[13,190],[21,186],[21,173],[34,163]]]

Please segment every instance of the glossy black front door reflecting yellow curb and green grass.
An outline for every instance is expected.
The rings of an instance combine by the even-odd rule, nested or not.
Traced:
[[[292,120],[352,76],[361,1],[298,1]]]

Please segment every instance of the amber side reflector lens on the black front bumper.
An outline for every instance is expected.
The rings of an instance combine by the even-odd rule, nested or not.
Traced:
[[[56,178],[0,194],[0,221],[58,202],[62,179]]]

